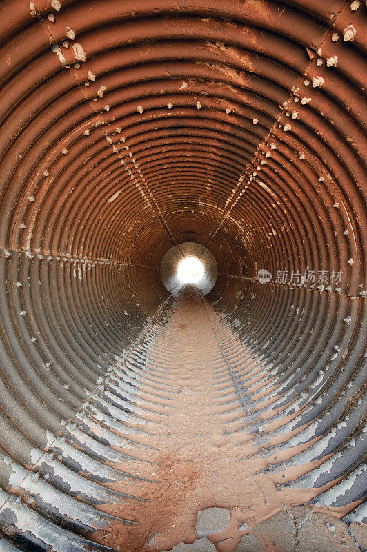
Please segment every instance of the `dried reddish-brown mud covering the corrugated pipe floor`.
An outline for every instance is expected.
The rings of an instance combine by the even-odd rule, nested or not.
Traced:
[[[172,307],[168,324],[150,352],[146,384],[137,394],[140,406],[149,412],[145,416],[148,424],[144,426],[144,433],[134,437],[143,446],[130,452],[123,449],[137,460],[121,465],[121,469],[147,481],[126,484],[121,480],[114,487],[149,502],[127,498],[121,504],[105,507],[108,513],[139,524],[116,522],[106,531],[96,533],[99,542],[126,552],[170,550],[179,542],[195,542],[198,512],[215,506],[230,511],[226,527],[209,535],[216,549],[232,552],[239,546],[238,550],[251,550],[240,544],[244,535],[250,531],[256,533],[261,522],[275,514],[285,516],[293,528],[292,511],[286,511],[328,488],[277,491],[275,487],[279,480],[295,479],[325,458],[273,476],[253,475],[270,462],[295,455],[310,446],[310,442],[281,451],[274,458],[251,457],[259,451],[259,446],[253,444],[253,433],[247,434],[246,428],[241,429],[243,404],[235,386],[228,383],[226,360],[215,334],[218,324],[224,322],[193,288],[186,289]],[[231,350],[236,347],[244,348],[233,334]],[[244,357],[249,354],[244,350]],[[253,380],[254,374],[250,377]],[[256,377],[253,385],[257,388]],[[275,437],[271,444],[284,438]],[[316,511],[310,509],[310,513]],[[346,513],[343,509],[330,508],[319,511],[328,511],[328,515],[323,514],[326,523],[329,517],[333,520],[332,516],[342,517]],[[347,524],[340,524],[348,528]],[[321,524],[321,527],[326,526]],[[285,529],[283,517],[278,529]],[[272,531],[279,538],[274,526]],[[339,550],[335,546],[343,546],[341,550],[346,550],[346,546],[358,550],[350,534],[341,540],[341,533],[333,537],[327,528],[324,532],[331,539],[330,551]],[[264,535],[261,542],[264,550],[277,550],[268,537],[264,541]]]

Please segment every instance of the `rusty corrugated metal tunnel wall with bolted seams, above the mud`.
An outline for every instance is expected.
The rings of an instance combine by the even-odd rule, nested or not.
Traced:
[[[217,262],[205,308],[259,472],[364,520],[365,17],[1,1],[0,548],[107,550],[137,523],[107,506],[145,500],[128,463],[170,388],[147,363],[183,242]]]

